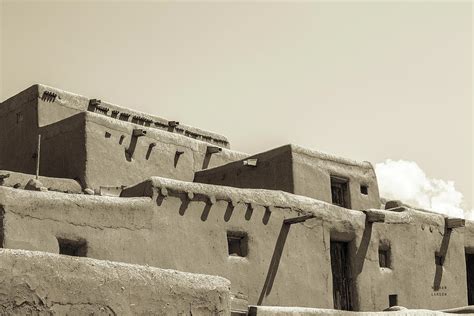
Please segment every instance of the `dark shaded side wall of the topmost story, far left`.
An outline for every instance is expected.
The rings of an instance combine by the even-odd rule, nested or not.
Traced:
[[[0,169],[35,173],[36,99],[30,88],[0,104]]]

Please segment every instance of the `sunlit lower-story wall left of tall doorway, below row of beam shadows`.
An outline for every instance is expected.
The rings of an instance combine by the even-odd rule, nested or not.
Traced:
[[[276,209],[264,224],[265,208],[255,206],[249,211],[245,204],[238,204],[232,214],[226,215],[226,221],[226,202],[219,201],[208,209],[199,197],[181,215],[182,197],[178,196],[170,196],[158,207],[150,198],[69,198],[53,192],[1,191],[9,196],[5,203],[9,204],[5,205],[6,248],[58,253],[57,237],[84,238],[89,257],[228,277],[239,299],[246,301],[250,296],[254,302],[265,283],[283,217],[298,215],[289,209]],[[204,209],[209,211],[207,218],[202,214]],[[229,257],[227,229],[248,232],[247,258]],[[304,306],[317,298],[317,304],[330,304],[326,286],[321,287],[327,278],[319,274],[308,278],[301,273],[310,273],[311,266],[303,263],[317,262],[323,252],[322,243],[312,246],[314,234],[318,231],[303,225],[291,228],[279,277],[265,302]],[[315,251],[306,252],[310,247],[316,247]],[[295,295],[301,287],[307,289],[311,300]]]

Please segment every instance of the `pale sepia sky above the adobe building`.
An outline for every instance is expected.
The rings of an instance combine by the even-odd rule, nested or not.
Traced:
[[[403,160],[431,183],[454,181],[474,208],[470,2],[1,10],[0,100],[41,82],[215,131],[248,153],[295,143]]]

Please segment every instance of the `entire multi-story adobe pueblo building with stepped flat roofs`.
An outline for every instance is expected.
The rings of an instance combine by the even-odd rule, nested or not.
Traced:
[[[0,314],[474,304],[474,223],[381,199],[368,162],[295,145],[250,156],[34,85],[0,105],[0,170]]]

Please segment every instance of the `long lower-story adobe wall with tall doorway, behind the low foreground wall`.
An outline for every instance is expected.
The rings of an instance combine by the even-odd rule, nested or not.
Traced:
[[[448,236],[441,215],[375,211],[385,223],[370,224],[360,211],[284,192],[163,178],[123,195],[130,197],[0,188],[4,247],[57,253],[57,237],[84,238],[93,258],[223,276],[234,309],[260,298],[264,305],[333,308],[330,241],[347,241],[356,309],[383,310],[392,294],[408,308],[467,304],[464,251],[474,247],[466,238],[472,223]],[[284,219],[308,213],[316,218],[282,229]],[[248,234],[247,257],[229,256],[228,231]],[[380,242],[390,244],[392,269],[379,267]],[[439,269],[434,254],[443,249]],[[278,256],[278,268],[270,268]]]

